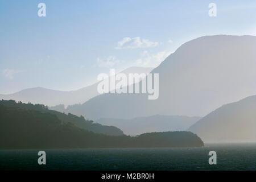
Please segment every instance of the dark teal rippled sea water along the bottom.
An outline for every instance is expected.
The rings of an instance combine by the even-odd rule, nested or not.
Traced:
[[[43,150],[43,149],[42,149]],[[209,151],[217,165],[209,165]],[[1,170],[256,170],[256,143],[205,144],[200,148],[0,150]]]

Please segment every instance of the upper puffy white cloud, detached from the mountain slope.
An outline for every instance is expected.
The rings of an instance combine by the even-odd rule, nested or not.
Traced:
[[[158,42],[151,42],[147,39],[141,39],[139,36],[135,38],[123,38],[119,41],[115,49],[132,49],[132,48],[147,48],[158,46]]]

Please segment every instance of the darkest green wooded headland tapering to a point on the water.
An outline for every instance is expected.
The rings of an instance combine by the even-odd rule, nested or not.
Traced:
[[[0,148],[201,147],[188,131],[109,136],[61,122],[53,113],[0,104]]]

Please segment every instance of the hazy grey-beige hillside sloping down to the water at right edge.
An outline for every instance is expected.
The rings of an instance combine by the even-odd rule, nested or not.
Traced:
[[[221,106],[188,131],[204,142],[256,142],[256,96]]]

